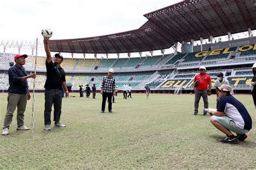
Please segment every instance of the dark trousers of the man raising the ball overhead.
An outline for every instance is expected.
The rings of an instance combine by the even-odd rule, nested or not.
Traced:
[[[62,90],[60,89],[45,89],[44,93],[44,125],[51,125],[51,107],[53,105],[53,121],[60,120],[62,113]]]

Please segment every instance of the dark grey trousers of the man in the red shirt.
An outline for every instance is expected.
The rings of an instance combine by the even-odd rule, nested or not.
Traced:
[[[203,97],[204,108],[208,108],[207,90],[194,90],[194,113],[198,113],[200,98]],[[204,111],[204,113],[207,113]]]

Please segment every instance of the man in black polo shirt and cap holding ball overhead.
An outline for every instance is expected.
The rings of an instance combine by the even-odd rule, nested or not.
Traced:
[[[58,53],[55,54],[54,63],[51,59],[49,38],[44,38],[46,52],[46,81],[45,81],[45,104],[44,104],[44,130],[51,130],[51,108],[54,106],[55,127],[65,127],[66,125],[59,122],[60,114],[62,113],[62,97],[63,88],[65,97],[69,97],[68,87],[66,86],[65,72],[60,67],[63,62],[63,57]]]

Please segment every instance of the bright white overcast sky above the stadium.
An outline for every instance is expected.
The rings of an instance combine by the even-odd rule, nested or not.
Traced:
[[[38,51],[45,55],[42,29],[53,31],[51,39],[109,35],[138,29],[147,21],[144,14],[178,2],[181,0],[2,0],[0,43],[8,40],[25,42],[38,38]],[[15,50],[17,47],[6,49],[6,52],[15,53]],[[28,50],[30,46],[26,45],[21,53]],[[3,45],[0,45],[2,51]],[[154,55],[159,55],[159,52]],[[146,53],[149,55],[149,52],[143,55]]]

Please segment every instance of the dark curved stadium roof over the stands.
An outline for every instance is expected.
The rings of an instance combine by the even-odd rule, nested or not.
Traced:
[[[137,30],[50,40],[53,52],[130,53],[169,49],[174,43],[256,29],[256,0],[186,0],[144,15]]]

